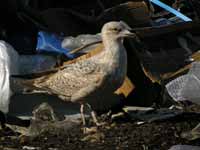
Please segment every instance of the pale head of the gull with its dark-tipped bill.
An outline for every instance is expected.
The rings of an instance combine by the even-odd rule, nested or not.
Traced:
[[[112,21],[106,23],[102,28],[102,38],[113,40],[122,40],[125,37],[136,37],[134,33],[130,32],[131,28],[123,21]]]

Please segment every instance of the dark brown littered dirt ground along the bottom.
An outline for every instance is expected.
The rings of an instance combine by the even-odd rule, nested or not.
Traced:
[[[45,132],[37,138],[8,136],[0,131],[0,148],[8,150],[73,150],[73,149],[116,149],[116,150],[167,150],[172,145],[189,144],[200,146],[200,139],[188,141],[180,137],[184,131],[191,130],[198,121],[164,121],[136,125],[133,121],[114,122],[100,128],[97,133],[85,135],[81,127],[69,132]]]

